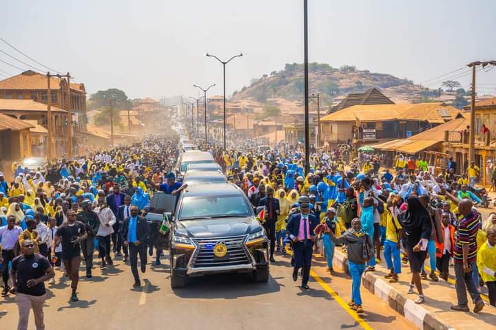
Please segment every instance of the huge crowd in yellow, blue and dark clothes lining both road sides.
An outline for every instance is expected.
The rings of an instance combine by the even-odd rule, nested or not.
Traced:
[[[155,263],[161,263],[163,235],[143,215],[156,190],[177,195],[186,187],[172,171],[178,146],[178,136],[169,133],[133,146],[59,159],[46,168],[13,164],[12,182],[0,173],[1,294],[16,294],[19,325],[27,326],[29,308],[37,325],[42,322],[43,281],[54,281],[53,267],[70,278],[71,300],[78,300],[81,254],[87,278],[92,277],[95,249],[101,267],[123,256],[134,287],[141,285],[138,259],[145,272],[147,252],[152,256],[155,248]],[[453,264],[458,299],[452,309],[468,310],[468,289],[473,311],[482,310],[481,285],[488,287],[490,304],[496,305],[496,215],[482,219],[474,207],[479,201],[470,190],[477,176],[473,164],[466,175],[456,177],[450,159],[446,173],[434,177],[424,159],[415,162],[400,155],[389,170],[381,167],[378,155],[361,154],[345,164],[339,153],[313,149],[305,175],[300,148],[200,148],[214,155],[227,179],[251,201],[270,241],[270,261],[275,254],[291,254],[293,280],[298,281],[301,270],[304,289],[309,289],[313,251],[322,248],[333,275],[333,254],[340,246],[352,278],[349,306],[358,313],[363,313],[362,274],[375,272],[382,259],[391,283],[399,281],[402,267],[409,264],[409,294],[416,290],[415,303],[426,300],[422,281],[440,281],[437,274],[447,280]],[[39,265],[37,272],[25,274],[21,265],[26,260],[32,267]]]

